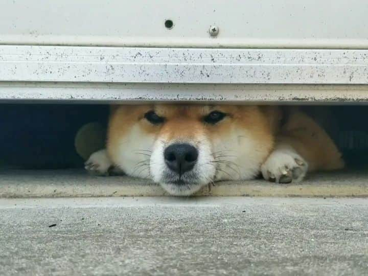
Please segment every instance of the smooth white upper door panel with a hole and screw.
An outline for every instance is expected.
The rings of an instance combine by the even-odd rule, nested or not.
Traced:
[[[9,0],[0,43],[368,49],[367,14],[366,0]]]

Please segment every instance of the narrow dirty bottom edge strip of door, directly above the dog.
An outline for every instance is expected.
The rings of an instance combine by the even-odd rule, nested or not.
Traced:
[[[0,102],[347,104],[368,102],[368,85],[237,85],[0,82]]]

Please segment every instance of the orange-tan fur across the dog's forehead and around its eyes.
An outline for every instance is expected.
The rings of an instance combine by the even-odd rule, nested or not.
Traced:
[[[154,109],[159,116],[167,118],[164,126],[153,126],[143,121],[141,127],[147,133],[164,135],[168,139],[186,137],[203,132],[210,137],[221,136],[222,133],[232,131],[232,128],[248,128],[255,139],[261,141],[264,151],[268,152],[273,147],[274,133],[277,132],[281,119],[280,109],[270,106],[212,106],[201,105],[123,105],[111,107],[107,134],[107,151],[114,160],[116,148],[120,138],[129,130],[131,124],[143,119],[147,110]],[[216,126],[203,126],[201,118],[212,110],[220,110],[231,114],[225,122]]]

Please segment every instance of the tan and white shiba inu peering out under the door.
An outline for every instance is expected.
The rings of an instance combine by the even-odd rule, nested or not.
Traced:
[[[172,195],[219,180],[301,181],[344,166],[328,133],[296,107],[249,105],[112,106],[106,149],[85,168],[150,178]]]

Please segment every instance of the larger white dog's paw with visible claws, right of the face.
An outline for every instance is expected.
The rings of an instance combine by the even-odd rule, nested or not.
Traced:
[[[307,162],[293,150],[276,149],[261,166],[263,178],[277,183],[301,181],[308,171]]]

